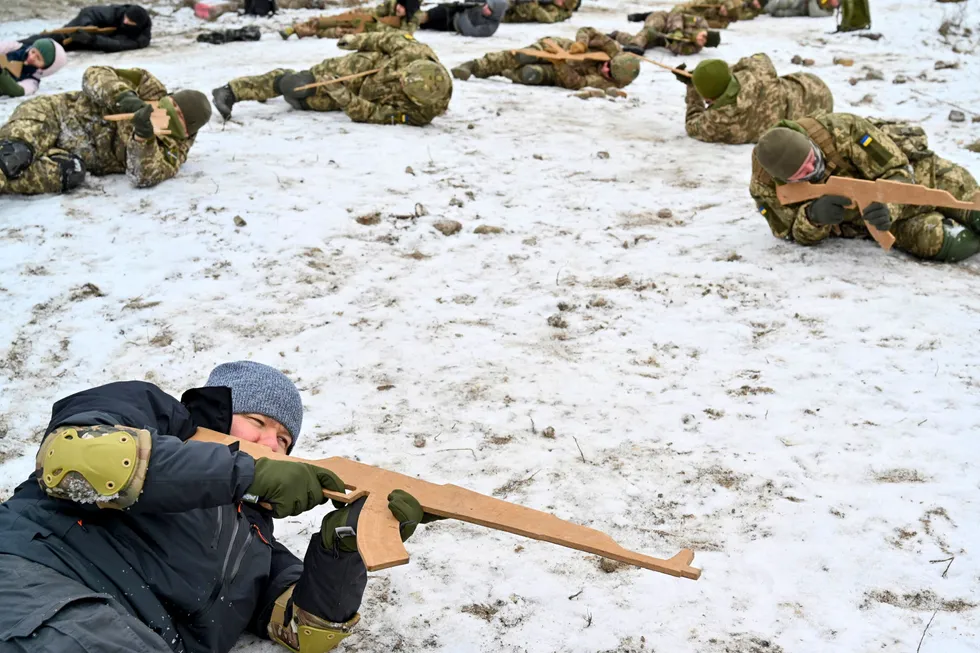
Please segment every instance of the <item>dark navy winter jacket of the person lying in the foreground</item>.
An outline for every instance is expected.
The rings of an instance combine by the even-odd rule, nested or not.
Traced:
[[[267,637],[272,606],[302,562],[274,539],[270,513],[240,503],[253,459],[185,442],[198,426],[227,433],[231,415],[228,388],[190,390],[177,401],[128,381],[62,399],[48,433],[63,424],[153,433],[143,492],[124,511],[100,510],[48,497],[32,473],[0,504],[0,553],[112,595],[177,653],[225,653],[245,630]]]

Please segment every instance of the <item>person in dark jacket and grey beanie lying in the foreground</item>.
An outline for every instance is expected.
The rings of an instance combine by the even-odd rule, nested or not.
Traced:
[[[187,441],[204,427],[289,452],[302,416],[292,382],[248,361],[219,365],[180,401],[128,381],[55,403],[36,471],[0,504],[0,651],[227,653],[246,630],[299,653],[333,649],[367,582],[363,500],[328,513],[300,562],[273,518],[343,481]],[[408,493],[388,500],[403,540],[428,521]]]

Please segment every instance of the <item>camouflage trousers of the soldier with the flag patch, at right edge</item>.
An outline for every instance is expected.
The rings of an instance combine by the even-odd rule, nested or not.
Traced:
[[[977,180],[970,172],[952,161],[931,156],[914,166],[915,181],[929,188],[949,191],[959,200],[970,200],[977,190]],[[902,251],[922,258],[933,258],[943,246],[945,227],[955,222],[980,235],[977,225],[968,220],[963,209],[935,208],[930,206],[905,206],[895,220],[891,232],[895,246]]]

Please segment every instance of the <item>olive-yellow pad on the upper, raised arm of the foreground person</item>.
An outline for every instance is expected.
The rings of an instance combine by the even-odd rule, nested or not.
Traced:
[[[60,426],[41,442],[37,480],[48,495],[121,510],[136,503],[153,440],[128,426]]]

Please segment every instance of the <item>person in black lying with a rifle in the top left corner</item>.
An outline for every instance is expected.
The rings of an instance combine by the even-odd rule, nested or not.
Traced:
[[[51,38],[61,43],[65,50],[139,50],[150,45],[152,21],[146,9],[139,5],[98,5],[85,7],[65,27],[113,27],[115,31],[108,34],[83,31],[70,34],[36,34],[20,40],[23,43],[33,43],[40,38]]]

